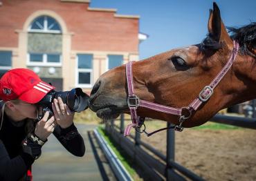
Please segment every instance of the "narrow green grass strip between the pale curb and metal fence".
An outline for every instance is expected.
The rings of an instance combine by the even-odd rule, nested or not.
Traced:
[[[131,161],[131,158],[129,158],[129,155],[127,155],[127,153],[125,153],[125,151],[122,150],[122,148],[118,144],[116,144],[115,142],[113,142],[113,140],[110,139],[109,135],[107,135],[102,126],[98,126],[98,131],[107,141],[113,152],[116,153],[116,156],[118,157],[120,162],[122,162],[122,164],[125,166],[125,169],[127,169],[131,177],[134,180],[138,180],[138,175],[136,174],[136,171],[132,168],[133,162]]]

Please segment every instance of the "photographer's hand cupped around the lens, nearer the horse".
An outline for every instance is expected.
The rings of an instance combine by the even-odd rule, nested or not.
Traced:
[[[63,103],[62,98],[53,99],[52,108],[55,120],[62,128],[68,128],[73,124],[75,113],[72,113],[68,105]]]

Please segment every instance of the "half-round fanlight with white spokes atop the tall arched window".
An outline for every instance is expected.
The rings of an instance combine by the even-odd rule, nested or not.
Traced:
[[[37,17],[29,27],[30,32],[50,32],[50,33],[61,33],[59,23],[52,17],[41,16]]]

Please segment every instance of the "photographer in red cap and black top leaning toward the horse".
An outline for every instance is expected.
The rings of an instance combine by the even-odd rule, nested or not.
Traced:
[[[37,104],[54,88],[26,68],[9,70],[1,77],[0,180],[32,180],[31,165],[51,133],[70,153],[84,155],[84,140],[73,124],[74,113],[64,101],[53,99],[53,116],[49,111],[43,113]]]

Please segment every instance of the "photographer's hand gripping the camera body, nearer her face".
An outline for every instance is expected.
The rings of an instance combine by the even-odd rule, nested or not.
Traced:
[[[52,116],[49,120],[48,117],[49,112],[46,111],[42,120],[37,122],[37,125],[35,126],[35,135],[37,135],[37,137],[44,142],[46,141],[47,137],[53,133],[56,125],[55,117]]]

